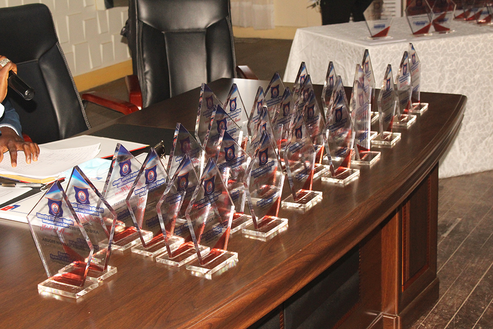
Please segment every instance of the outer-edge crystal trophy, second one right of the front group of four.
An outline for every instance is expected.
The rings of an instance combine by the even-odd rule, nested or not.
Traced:
[[[282,200],[282,207],[306,211],[322,199],[322,192],[312,191],[315,155],[308,127],[298,113],[284,151],[291,195]]]

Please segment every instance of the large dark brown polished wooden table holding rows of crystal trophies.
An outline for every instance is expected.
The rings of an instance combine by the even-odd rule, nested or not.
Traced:
[[[232,82],[210,87],[225,99]],[[234,82],[247,108],[268,84]],[[177,121],[193,131],[198,97],[194,89],[88,133]],[[320,319],[329,328],[405,327],[438,297],[438,161],[466,103],[450,94],[423,100],[429,111],[357,180],[336,187],[318,179],[321,203],[305,214],[281,209],[286,231],[268,241],[232,235],[239,262],[212,280],[114,252],[118,273],[77,302],[42,296],[36,285],[46,274],[28,225],[0,220],[0,327],[247,328],[259,319],[262,328],[320,327]]]

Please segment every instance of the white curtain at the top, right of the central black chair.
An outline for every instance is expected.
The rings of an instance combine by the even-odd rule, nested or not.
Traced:
[[[274,28],[274,0],[231,0],[232,24],[256,30]]]

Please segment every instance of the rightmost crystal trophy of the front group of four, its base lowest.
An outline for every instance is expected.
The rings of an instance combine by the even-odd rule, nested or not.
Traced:
[[[227,251],[234,213],[235,206],[216,162],[209,159],[185,216],[195,249],[203,246],[211,250],[206,255],[197,252],[197,259],[186,264],[186,269],[212,275],[238,261],[238,253]]]

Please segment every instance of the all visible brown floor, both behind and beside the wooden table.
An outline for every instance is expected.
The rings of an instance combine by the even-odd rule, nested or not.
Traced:
[[[237,64],[262,80],[281,77],[291,41],[236,40]],[[127,99],[123,79],[94,88]],[[92,126],[121,114],[88,108]],[[438,276],[440,298],[412,329],[493,328],[493,171],[439,182]]]

